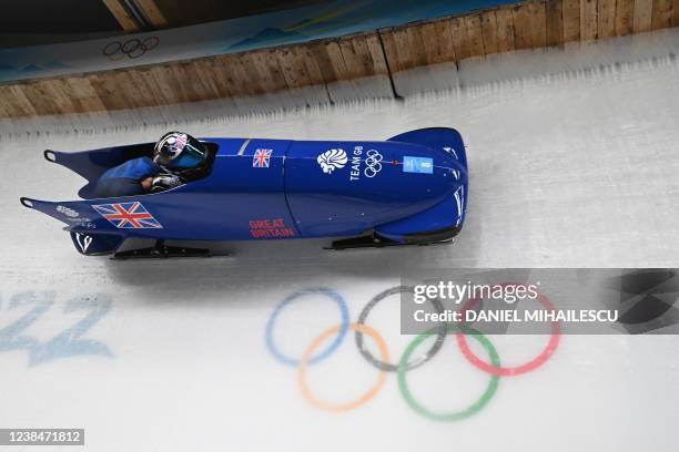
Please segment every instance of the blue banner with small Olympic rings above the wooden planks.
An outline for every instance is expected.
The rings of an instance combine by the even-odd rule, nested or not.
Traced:
[[[335,0],[260,16],[71,43],[0,50],[0,82],[212,56],[373,31],[507,0]]]

